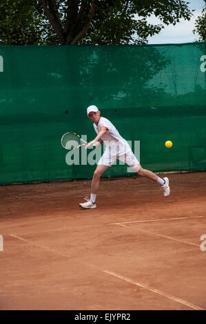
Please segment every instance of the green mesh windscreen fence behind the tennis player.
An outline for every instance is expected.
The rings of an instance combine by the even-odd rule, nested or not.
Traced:
[[[92,104],[133,151],[140,141],[143,168],[206,170],[205,71],[206,43],[0,46],[0,183],[91,178],[92,150],[68,165],[61,136],[94,139]],[[123,174],[117,163],[104,175]]]

